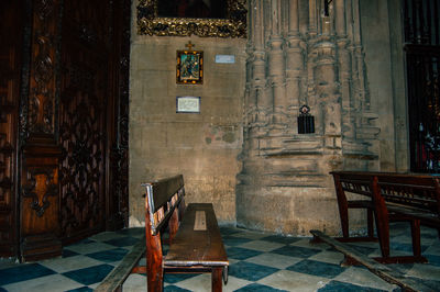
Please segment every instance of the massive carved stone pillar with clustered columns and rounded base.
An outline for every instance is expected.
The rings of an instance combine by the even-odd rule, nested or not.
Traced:
[[[365,106],[359,26],[351,26],[360,18],[356,1],[332,1],[326,15],[323,0],[252,1],[245,109],[255,101],[267,117],[272,105],[273,119],[244,126],[253,134],[244,136],[241,156],[239,225],[294,235],[308,235],[311,228],[336,234],[329,171],[374,169],[378,128]],[[315,133],[298,134],[302,104],[310,106]],[[258,119],[248,111],[245,120]]]

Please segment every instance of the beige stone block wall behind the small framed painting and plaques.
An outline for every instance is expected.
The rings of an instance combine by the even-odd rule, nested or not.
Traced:
[[[138,35],[134,20],[130,225],[144,222],[141,183],[177,173],[184,175],[187,203],[212,202],[218,220],[234,224],[246,40]],[[189,41],[196,45],[193,49],[204,50],[202,85],[176,83],[176,50]],[[233,55],[235,63],[217,64],[216,55]],[[176,113],[176,97],[186,96],[201,98],[200,113]]]

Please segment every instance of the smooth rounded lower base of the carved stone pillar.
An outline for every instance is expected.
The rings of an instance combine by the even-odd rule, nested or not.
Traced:
[[[239,226],[246,228],[299,236],[310,236],[309,231],[314,228],[333,235],[340,232],[338,207],[330,189],[239,187],[237,204],[253,210],[238,212]],[[354,229],[362,226],[360,215],[351,217]]]

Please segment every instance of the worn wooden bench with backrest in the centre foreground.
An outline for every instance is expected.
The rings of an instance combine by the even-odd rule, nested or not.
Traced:
[[[144,186],[148,291],[163,291],[165,272],[209,272],[212,291],[221,291],[229,261],[212,204],[191,203],[185,207],[182,175]],[[166,256],[161,238],[165,226],[169,229]]]

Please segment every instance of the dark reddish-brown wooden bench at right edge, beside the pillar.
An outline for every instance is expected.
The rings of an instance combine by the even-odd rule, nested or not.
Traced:
[[[338,206],[341,218],[341,242],[350,242],[350,207],[365,207],[369,212],[367,239],[373,238],[372,213],[382,257],[376,260],[385,263],[427,262],[421,256],[420,224],[440,231],[440,184],[433,176],[416,176],[388,172],[333,171]],[[365,200],[348,200],[345,192],[362,194]],[[389,222],[407,221],[411,226],[413,256],[389,255]],[[439,232],[440,235],[440,232]]]

